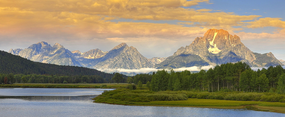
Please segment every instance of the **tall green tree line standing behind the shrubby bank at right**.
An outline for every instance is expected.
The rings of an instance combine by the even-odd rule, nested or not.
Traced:
[[[279,92],[285,93],[285,70],[281,65],[262,68],[254,71],[249,65],[242,62],[226,63],[191,73],[170,72],[158,70],[152,75],[138,74],[128,77],[127,82],[138,84],[141,81],[149,86],[152,91],[165,90],[200,90],[216,91],[241,91],[241,92]]]

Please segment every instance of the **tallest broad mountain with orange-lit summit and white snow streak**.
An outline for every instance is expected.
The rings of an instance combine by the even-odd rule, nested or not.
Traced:
[[[223,29],[209,29],[203,37],[197,37],[189,46],[179,48],[156,67],[179,68],[238,61],[246,62],[252,67],[282,65],[272,53],[264,56],[252,52],[237,35],[230,35]]]

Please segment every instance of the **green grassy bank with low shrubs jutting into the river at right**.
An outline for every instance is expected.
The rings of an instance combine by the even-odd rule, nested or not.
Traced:
[[[262,95],[267,95],[260,93]],[[281,102],[265,102],[265,101],[236,101],[236,100],[217,100],[217,99],[201,99],[217,97],[221,95],[228,99],[237,99],[236,97],[245,98],[241,95],[257,95],[255,93],[238,93],[238,92],[190,92],[190,91],[163,91],[152,92],[149,90],[128,90],[117,89],[107,91],[95,97],[93,100],[97,103],[109,103],[120,105],[143,105],[143,106],[181,106],[181,107],[207,107],[207,108],[224,108],[224,109],[244,109],[248,107],[256,107],[258,110],[267,110],[272,112],[285,113],[285,103]],[[205,96],[208,95],[208,96]],[[262,96],[258,95],[258,96]],[[273,94],[271,94],[273,95]],[[277,94],[276,94],[277,95]],[[197,99],[200,98],[200,99]],[[231,97],[231,98],[230,98]],[[251,96],[252,97],[252,96]],[[269,96],[270,97],[270,96]]]

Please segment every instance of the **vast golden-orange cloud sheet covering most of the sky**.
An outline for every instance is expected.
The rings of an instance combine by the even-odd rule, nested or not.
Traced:
[[[0,35],[17,34],[34,38],[76,39],[142,37],[187,39],[190,36],[191,38],[203,36],[203,33],[210,28],[225,29],[229,32],[241,30],[233,26],[242,26],[245,25],[242,21],[260,17],[213,12],[211,9],[184,8],[200,3],[210,2],[208,0],[1,1]],[[177,25],[111,22],[113,19],[179,20],[179,22],[176,23]],[[191,27],[186,27],[185,24]],[[256,24],[252,22],[251,25]]]

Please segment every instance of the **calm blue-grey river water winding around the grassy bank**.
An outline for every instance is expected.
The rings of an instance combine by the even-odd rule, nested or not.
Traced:
[[[93,103],[90,98],[103,92],[98,90],[0,88],[0,116],[285,116],[281,113],[247,109],[125,106]]]

